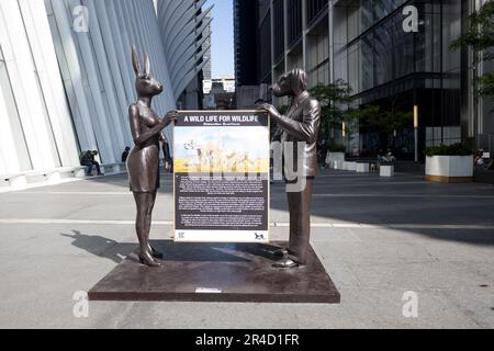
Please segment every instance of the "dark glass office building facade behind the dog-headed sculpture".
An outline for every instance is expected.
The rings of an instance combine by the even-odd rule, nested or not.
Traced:
[[[343,79],[353,107],[379,105],[417,115],[419,155],[426,146],[473,139],[492,150],[492,104],[474,98],[468,49],[451,50],[468,15],[468,0],[257,0],[258,83],[285,71],[307,71],[310,88]],[[405,31],[409,7],[417,27]],[[484,64],[476,71],[492,71]],[[268,97],[268,99],[270,99]],[[273,99],[287,104],[287,99]],[[400,156],[413,159],[414,118],[396,131]],[[343,137],[346,136],[346,140]],[[379,152],[379,136],[333,131],[334,143],[356,154]],[[480,145],[482,144],[482,145]]]

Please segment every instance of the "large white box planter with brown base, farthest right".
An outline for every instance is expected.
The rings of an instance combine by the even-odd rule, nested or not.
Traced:
[[[472,182],[473,156],[427,157],[426,180],[440,183]]]

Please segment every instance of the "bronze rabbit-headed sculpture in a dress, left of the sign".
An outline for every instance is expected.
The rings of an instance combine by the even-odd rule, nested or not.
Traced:
[[[161,265],[157,259],[162,258],[162,254],[149,245],[153,208],[160,185],[159,138],[162,129],[177,118],[177,112],[169,112],[161,120],[151,107],[153,98],[164,91],[164,86],[150,73],[149,55],[145,54],[142,71],[137,50],[133,46],[132,64],[137,101],[128,107],[128,121],[135,146],[126,163],[137,208],[135,227],[139,241],[139,262],[155,268]]]

